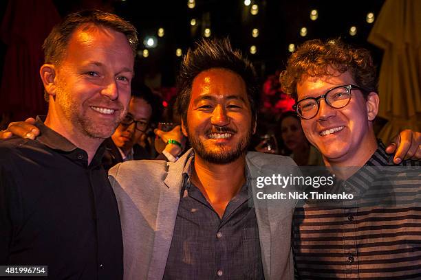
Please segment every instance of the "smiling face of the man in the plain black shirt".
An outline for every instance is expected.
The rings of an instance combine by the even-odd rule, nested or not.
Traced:
[[[79,27],[56,66],[55,110],[73,130],[107,138],[126,114],[132,76],[133,54],[124,34]]]

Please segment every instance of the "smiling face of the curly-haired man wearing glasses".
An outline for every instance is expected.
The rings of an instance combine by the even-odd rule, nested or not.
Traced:
[[[319,97],[335,86],[348,84],[356,84],[349,72],[303,77],[297,84],[298,100]],[[325,161],[349,162],[364,154],[367,145],[373,145],[371,120],[374,117],[367,115],[367,102],[361,91],[353,89],[349,104],[343,108],[332,108],[323,98],[319,100],[319,106],[319,113],[312,119],[301,119],[301,125],[305,136],[319,149]]]

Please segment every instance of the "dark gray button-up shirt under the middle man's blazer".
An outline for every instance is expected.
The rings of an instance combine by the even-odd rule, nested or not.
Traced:
[[[188,179],[192,159],[183,173],[164,279],[263,279],[255,208],[248,206],[249,183],[230,200],[221,219]]]

